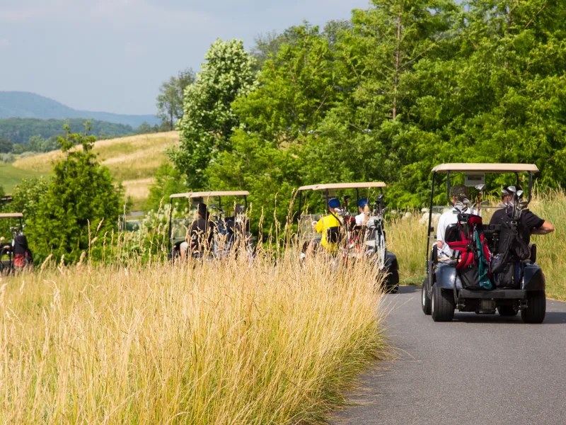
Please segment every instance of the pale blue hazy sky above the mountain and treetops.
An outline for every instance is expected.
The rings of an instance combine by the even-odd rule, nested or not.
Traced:
[[[350,18],[369,0],[0,0],[0,91],[72,108],[155,113],[162,81],[200,68],[216,38],[246,48],[304,19]]]

